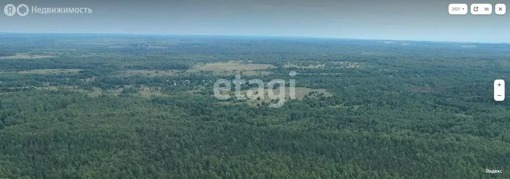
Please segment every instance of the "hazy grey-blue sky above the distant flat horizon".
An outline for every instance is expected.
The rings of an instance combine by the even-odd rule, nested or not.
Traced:
[[[254,35],[510,42],[510,15],[449,15],[444,0],[0,0],[0,6],[90,8],[0,14],[0,32]],[[485,0],[505,3],[510,0]]]

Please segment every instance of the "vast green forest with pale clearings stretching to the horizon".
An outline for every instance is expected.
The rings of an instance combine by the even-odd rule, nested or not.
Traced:
[[[1,34],[0,178],[510,178],[509,70],[509,44]],[[236,74],[301,96],[215,98]]]

